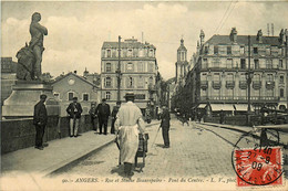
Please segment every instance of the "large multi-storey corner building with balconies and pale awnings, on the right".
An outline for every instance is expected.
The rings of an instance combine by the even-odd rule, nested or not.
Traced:
[[[194,67],[188,74],[192,82],[194,106],[214,110],[245,112],[248,104],[248,64],[250,63],[251,110],[263,106],[287,108],[288,65],[287,32],[279,36],[264,36],[261,30],[250,35],[237,35],[235,28],[229,35],[213,35],[200,44],[194,54]],[[249,49],[250,47],[250,49]],[[250,59],[248,52],[250,50]]]

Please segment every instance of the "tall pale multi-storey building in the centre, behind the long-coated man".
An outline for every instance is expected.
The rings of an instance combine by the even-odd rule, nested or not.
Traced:
[[[155,108],[158,66],[156,47],[132,38],[121,42],[121,100],[134,92],[135,104],[144,113],[147,105]],[[115,105],[117,100],[119,42],[104,42],[101,56],[102,98]]]

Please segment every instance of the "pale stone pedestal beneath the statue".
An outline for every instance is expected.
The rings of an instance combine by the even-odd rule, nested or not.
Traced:
[[[2,117],[27,118],[33,117],[34,105],[40,100],[40,95],[47,95],[47,110],[49,116],[58,116],[60,106],[55,100],[52,86],[41,82],[17,81],[12,86],[12,94],[3,102]]]

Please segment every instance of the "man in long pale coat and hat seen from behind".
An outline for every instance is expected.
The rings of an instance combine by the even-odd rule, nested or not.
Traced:
[[[144,134],[145,124],[140,108],[133,103],[134,93],[126,93],[115,121],[120,141],[120,159],[124,163],[125,177],[132,177],[132,163],[138,149],[138,132]],[[144,137],[144,136],[143,136]]]

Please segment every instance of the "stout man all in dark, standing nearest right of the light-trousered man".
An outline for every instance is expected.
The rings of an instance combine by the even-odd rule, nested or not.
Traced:
[[[97,105],[97,117],[99,117],[99,130],[102,134],[102,126],[104,125],[104,135],[107,135],[107,120],[110,116],[110,106],[106,104],[106,99],[103,98],[102,103]]]

